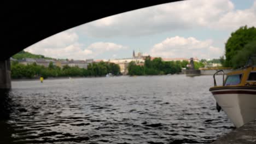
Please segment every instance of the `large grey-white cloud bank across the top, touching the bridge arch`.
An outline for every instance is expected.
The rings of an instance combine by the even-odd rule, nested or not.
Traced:
[[[256,1],[255,1],[256,3]],[[86,23],[79,28],[92,37],[147,35],[176,29],[231,29],[256,26],[256,4],[235,10],[230,0],[188,0],[129,11]]]

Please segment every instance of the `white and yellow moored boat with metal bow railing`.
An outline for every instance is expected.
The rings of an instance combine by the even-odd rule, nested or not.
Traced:
[[[222,109],[237,128],[256,119],[256,65],[251,60],[251,64],[226,74],[225,80],[224,71],[217,71],[213,75],[214,87],[210,88],[217,110]],[[223,85],[217,86],[215,75],[220,72]]]

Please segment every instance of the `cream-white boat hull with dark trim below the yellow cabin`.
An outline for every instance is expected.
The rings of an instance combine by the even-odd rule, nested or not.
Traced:
[[[218,105],[238,128],[256,119],[256,87],[210,88]]]

